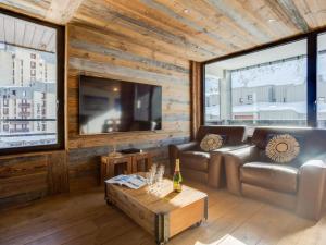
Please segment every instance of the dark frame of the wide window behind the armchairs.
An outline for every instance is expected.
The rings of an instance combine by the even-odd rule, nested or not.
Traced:
[[[201,84],[202,84],[202,106],[201,106],[201,115],[202,115],[202,124],[206,125],[205,122],[205,66],[208,64],[212,64],[218,61],[224,61],[233,58],[238,58],[241,56],[263,51],[269,48],[275,48],[278,46],[291,44],[294,41],[300,41],[302,39],[306,39],[306,127],[317,127],[317,54],[318,54],[318,44],[317,37],[319,34],[326,33],[326,27],[305,33],[299,34],[291,37],[286,37],[276,41],[272,41],[265,45],[261,45],[254,48],[246,49],[242,51],[237,51],[230,54],[226,54],[223,57],[214,58],[211,60],[203,61],[202,65],[202,75],[201,75]],[[236,125],[236,124],[235,124]],[[296,127],[296,126],[293,126]]]

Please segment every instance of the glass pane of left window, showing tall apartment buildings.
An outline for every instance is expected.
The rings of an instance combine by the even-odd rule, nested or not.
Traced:
[[[57,144],[57,29],[5,14],[0,26],[0,149]]]

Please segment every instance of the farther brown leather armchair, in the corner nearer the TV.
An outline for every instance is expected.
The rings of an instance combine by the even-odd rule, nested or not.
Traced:
[[[170,145],[171,173],[174,172],[175,160],[179,158],[184,179],[199,181],[213,187],[223,186],[225,171],[221,152],[244,147],[244,133],[243,126],[200,126],[196,140]],[[222,135],[225,138],[223,146],[214,151],[203,151],[199,145],[206,134]]]

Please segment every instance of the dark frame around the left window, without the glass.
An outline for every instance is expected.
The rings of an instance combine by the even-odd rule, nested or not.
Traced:
[[[26,152],[35,152],[35,151],[62,150],[65,148],[65,140],[64,140],[65,137],[65,124],[64,124],[65,26],[55,25],[49,22],[45,22],[35,17],[27,16],[25,14],[12,12],[10,10],[4,10],[1,8],[0,8],[0,13],[23,21],[32,22],[38,25],[51,27],[54,28],[57,32],[57,144],[2,148],[0,149],[0,156],[26,154]],[[26,48],[26,47],[22,47],[22,48]]]

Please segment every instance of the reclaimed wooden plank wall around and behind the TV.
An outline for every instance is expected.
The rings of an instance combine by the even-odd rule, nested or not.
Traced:
[[[100,156],[112,150],[148,149],[166,162],[167,145],[190,136],[189,61],[133,42],[116,33],[91,26],[67,26],[67,146],[71,189],[98,184]],[[162,86],[163,130],[80,136],[78,134],[78,75],[118,78]]]

